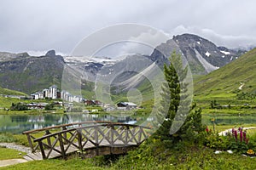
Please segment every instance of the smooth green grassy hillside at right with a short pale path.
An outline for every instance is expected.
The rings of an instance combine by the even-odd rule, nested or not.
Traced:
[[[234,96],[256,94],[256,48],[195,82],[195,95]]]

